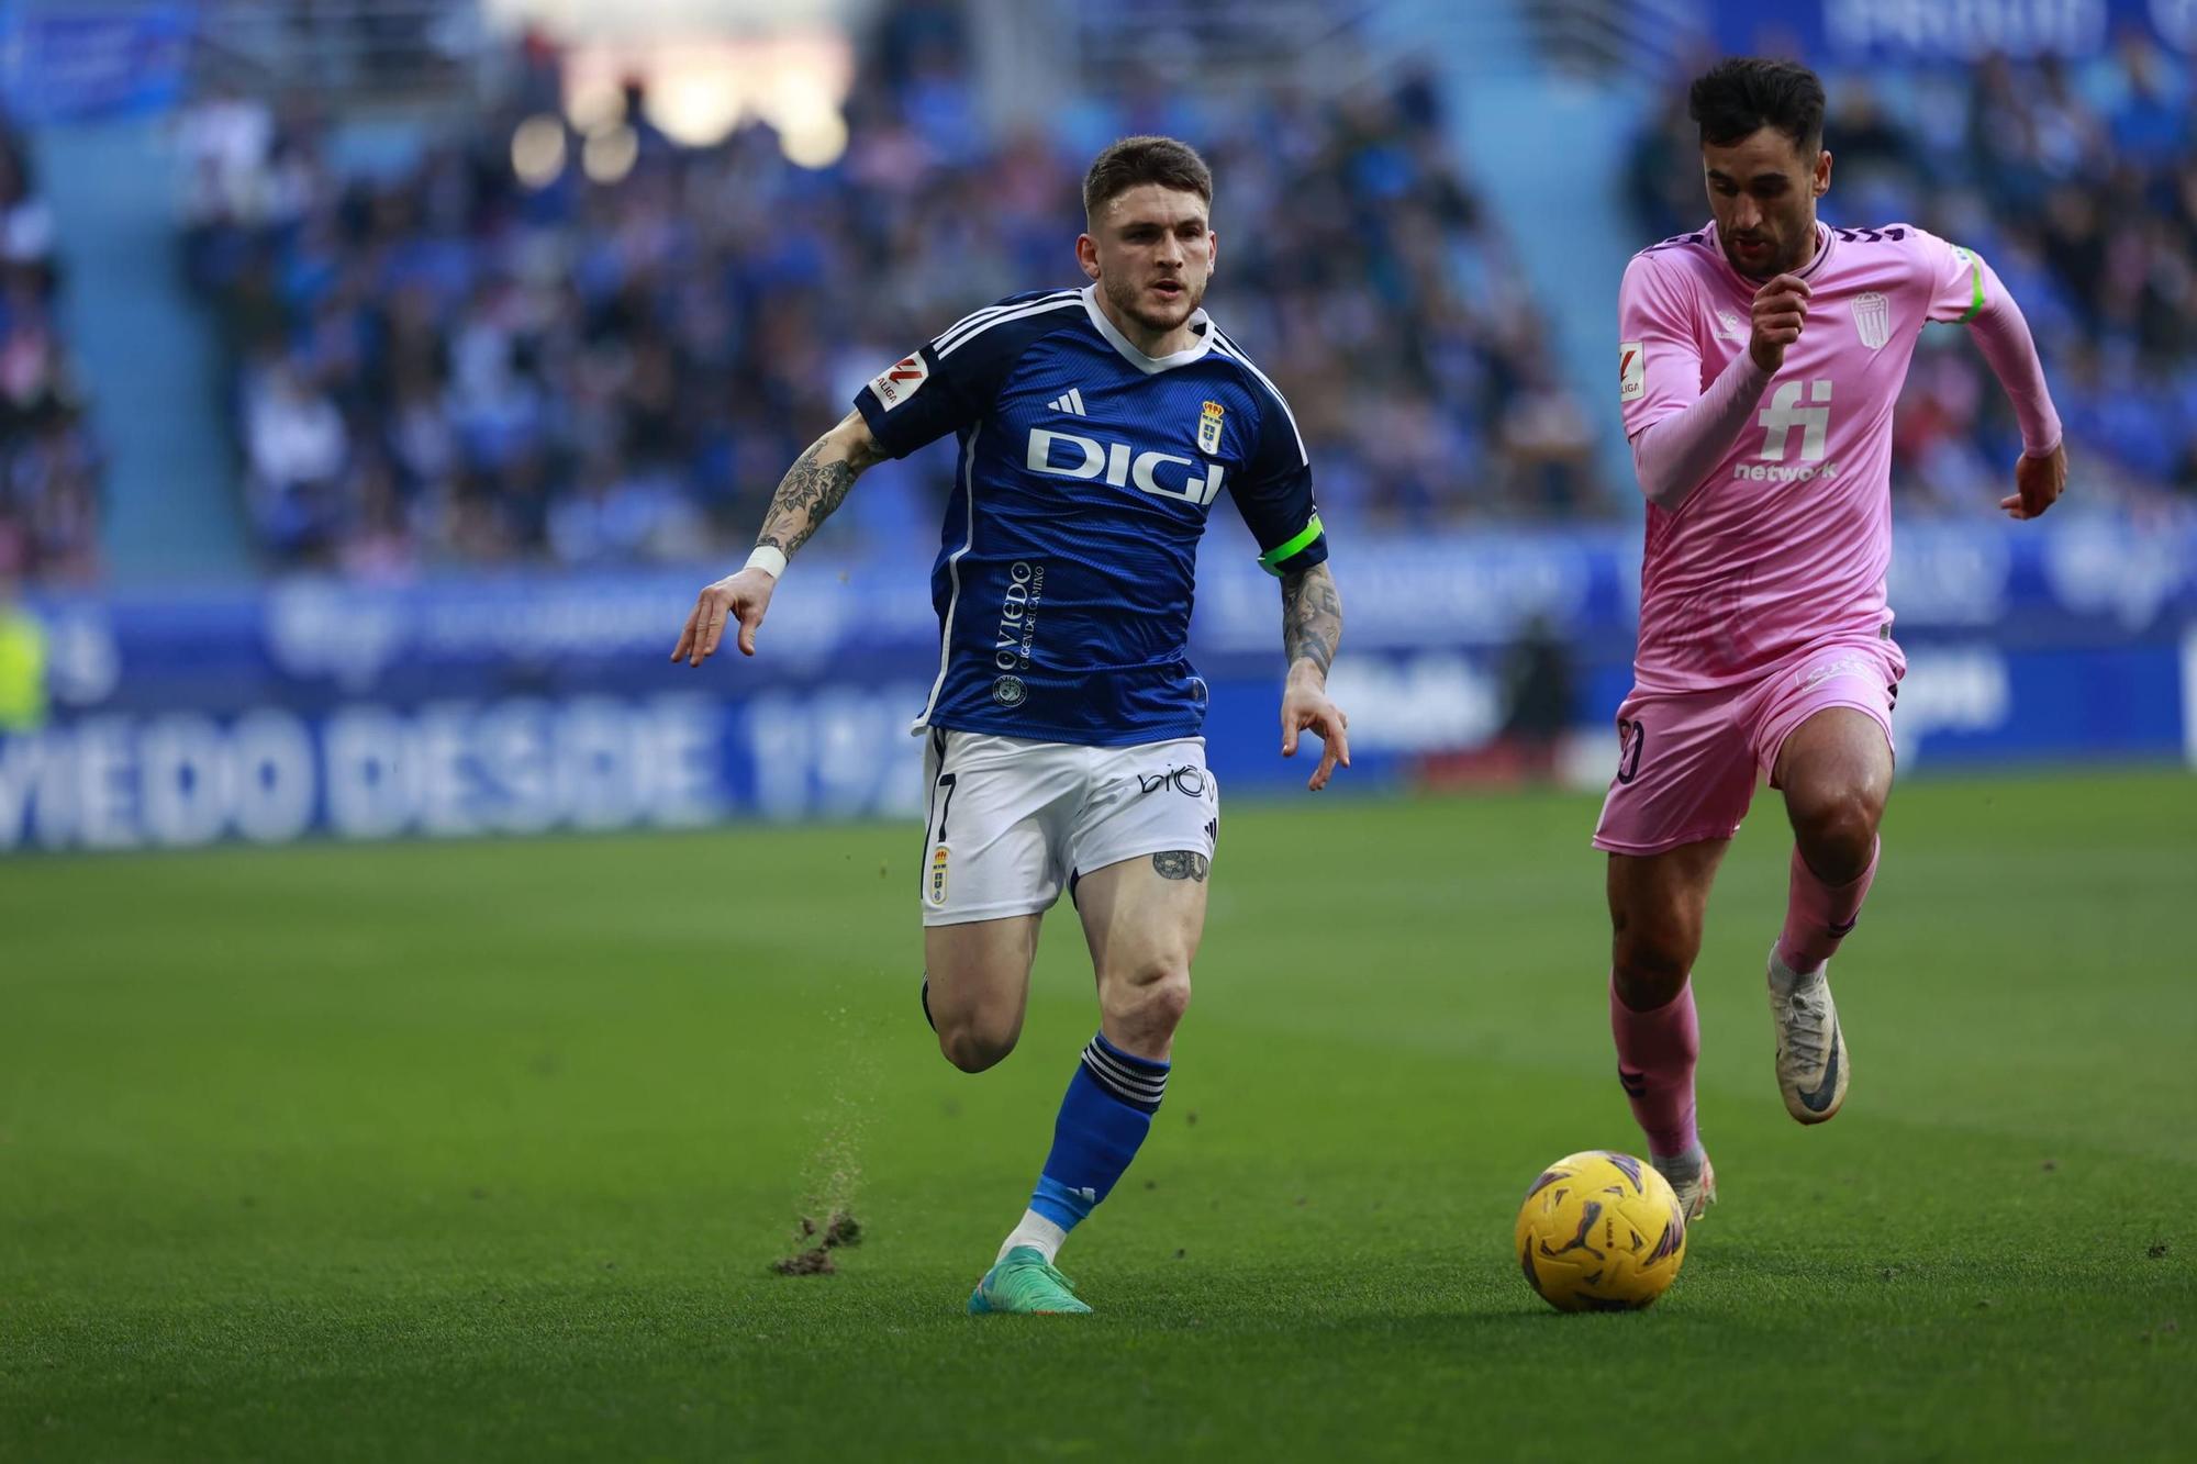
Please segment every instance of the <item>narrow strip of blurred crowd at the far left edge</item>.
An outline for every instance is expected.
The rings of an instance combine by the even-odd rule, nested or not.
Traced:
[[[0,119],[0,585],[99,567],[99,453],[57,319],[53,209]]]

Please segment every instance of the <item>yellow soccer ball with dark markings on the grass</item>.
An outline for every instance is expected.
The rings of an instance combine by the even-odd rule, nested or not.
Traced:
[[[1630,1154],[1588,1150],[1542,1169],[1518,1209],[1518,1264],[1560,1312],[1637,1312],[1685,1264],[1670,1180]]]

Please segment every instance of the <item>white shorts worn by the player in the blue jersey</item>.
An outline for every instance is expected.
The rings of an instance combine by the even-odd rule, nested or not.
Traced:
[[[1219,833],[1202,736],[1081,747],[932,728],[923,772],[925,925],[1050,910],[1107,864],[1171,849],[1211,859]]]

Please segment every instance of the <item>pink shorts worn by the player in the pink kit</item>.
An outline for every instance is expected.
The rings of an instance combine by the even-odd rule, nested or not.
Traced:
[[[1907,657],[1892,640],[1834,642],[1758,681],[1700,692],[1643,692],[1617,708],[1617,776],[1595,849],[1650,855],[1729,840],[1758,780],[1771,778],[1793,728],[1830,706],[1865,712],[1892,743]]]

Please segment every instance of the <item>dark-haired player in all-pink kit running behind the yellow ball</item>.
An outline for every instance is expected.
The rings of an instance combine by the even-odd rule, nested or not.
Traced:
[[[1635,255],[1619,292],[1626,435],[1648,497],[1635,686],[1595,846],[1608,851],[1610,1031],[1648,1150],[1698,1218],[1687,976],[1709,884],[1769,776],[1793,824],[1769,956],[1777,1086],[1802,1123],[1845,1099],[1828,961],[1876,873],[1892,791],[1892,404],[1927,321],[1966,325],[2023,453],[1999,508],[2061,495],[2059,415],[2021,310],[1977,255],[1911,224],[1830,229],[1824,86],[1729,59],[1694,81],[1714,222]]]

